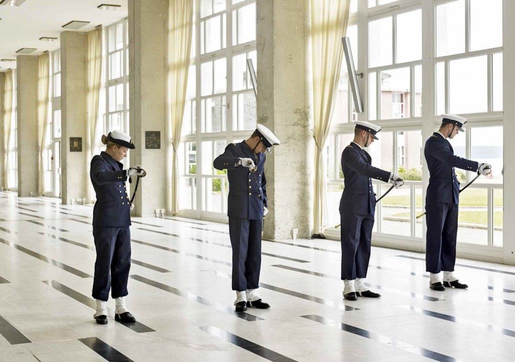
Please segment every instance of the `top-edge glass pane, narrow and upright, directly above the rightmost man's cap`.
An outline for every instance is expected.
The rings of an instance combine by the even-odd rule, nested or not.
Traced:
[[[436,7],[436,56],[465,51],[465,0]]]

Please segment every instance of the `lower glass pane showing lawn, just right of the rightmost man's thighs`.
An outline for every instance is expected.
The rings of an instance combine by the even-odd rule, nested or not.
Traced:
[[[488,245],[488,190],[469,187],[459,195],[459,243]]]

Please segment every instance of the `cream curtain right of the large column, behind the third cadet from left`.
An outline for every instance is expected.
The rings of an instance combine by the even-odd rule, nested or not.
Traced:
[[[327,225],[323,150],[331,126],[331,113],[340,78],[343,47],[349,22],[350,0],[310,0],[313,65],[313,116],[315,139],[315,197],[313,232]]]

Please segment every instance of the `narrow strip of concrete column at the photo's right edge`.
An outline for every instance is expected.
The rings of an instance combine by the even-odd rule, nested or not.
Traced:
[[[503,213],[503,259],[515,265],[515,3],[503,0],[503,127],[504,127],[504,213]],[[496,171],[498,172],[498,171]]]

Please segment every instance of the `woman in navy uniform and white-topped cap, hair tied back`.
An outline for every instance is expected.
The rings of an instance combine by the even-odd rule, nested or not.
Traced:
[[[102,136],[106,151],[93,156],[90,178],[96,193],[93,209],[93,237],[95,239],[96,261],[93,279],[93,298],[98,324],[107,323],[107,300],[109,289],[115,299],[115,320],[135,322],[136,319],[125,307],[127,279],[130,268],[130,202],[125,181],[129,176],[143,176],[141,166],[123,170],[120,162],[134,149],[129,135],[112,131]]]

